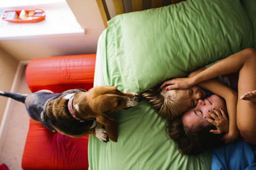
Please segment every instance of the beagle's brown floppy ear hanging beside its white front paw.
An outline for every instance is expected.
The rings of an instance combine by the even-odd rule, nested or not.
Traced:
[[[100,115],[96,118],[97,122],[104,125],[109,139],[117,141],[118,138],[118,122],[114,118],[109,119],[106,116]]]

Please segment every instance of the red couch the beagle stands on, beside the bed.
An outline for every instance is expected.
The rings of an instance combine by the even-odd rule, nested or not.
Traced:
[[[91,89],[95,54],[33,59],[26,67],[31,92]],[[23,169],[88,169],[88,136],[70,138],[30,120],[22,157]]]

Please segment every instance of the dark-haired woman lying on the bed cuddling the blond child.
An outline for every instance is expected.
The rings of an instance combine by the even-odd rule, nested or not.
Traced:
[[[236,92],[218,85],[220,82],[216,80],[211,80],[236,72],[239,72],[239,99]],[[237,138],[237,128],[241,138],[249,143],[256,143],[256,51],[253,48],[230,55],[207,69],[199,69],[189,78],[175,78],[164,84],[171,84],[168,86],[170,90],[199,85],[218,95],[200,99],[195,108],[170,122],[168,134],[178,143],[182,153],[197,155],[209,148],[220,146],[223,136],[225,143],[234,141]],[[227,105],[219,96],[226,100]],[[226,108],[229,125],[225,117]],[[212,130],[212,125],[217,129]]]

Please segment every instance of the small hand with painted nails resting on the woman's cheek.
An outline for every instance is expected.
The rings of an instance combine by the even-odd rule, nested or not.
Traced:
[[[221,108],[220,108],[221,113],[216,109],[212,109],[212,110],[214,111],[215,114],[212,113],[211,111],[209,111],[209,114],[211,115],[212,118],[214,118],[214,120],[207,117],[205,117],[205,120],[207,120],[207,122],[209,122],[210,124],[214,125],[217,129],[211,130],[210,132],[214,134],[227,133],[229,122],[225,115],[225,112]]]

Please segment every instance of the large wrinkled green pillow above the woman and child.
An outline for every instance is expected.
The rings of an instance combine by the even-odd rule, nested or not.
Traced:
[[[118,15],[108,25],[108,85],[125,92],[142,92],[186,76],[253,41],[239,0],[184,1]]]

